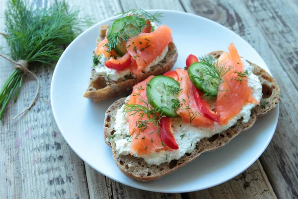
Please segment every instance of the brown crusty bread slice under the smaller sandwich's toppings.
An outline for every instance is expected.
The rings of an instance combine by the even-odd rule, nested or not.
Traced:
[[[105,36],[105,32],[109,26],[104,25],[99,28],[99,38],[96,43],[98,44]],[[158,62],[155,66],[150,68],[148,73],[141,75],[131,75],[129,77],[121,78],[117,81],[106,80],[104,76],[96,75],[95,70],[91,70],[91,77],[89,86],[84,94],[85,98],[91,99],[95,102],[111,99],[119,94],[131,90],[136,84],[142,82],[150,75],[162,75],[171,70],[178,57],[177,48],[173,42],[168,45],[168,52],[163,60]]]

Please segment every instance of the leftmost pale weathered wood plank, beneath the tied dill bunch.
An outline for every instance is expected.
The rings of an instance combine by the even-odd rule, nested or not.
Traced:
[[[31,1],[48,5],[48,1]],[[0,1],[0,32],[6,2]],[[0,46],[8,53],[5,40]],[[28,76],[15,104],[9,103],[4,126],[0,127],[0,198],[1,199],[88,199],[83,161],[75,155],[60,134],[53,118],[50,85],[53,71],[37,66],[32,69],[41,83],[36,104],[16,121],[11,118],[27,107],[36,91],[36,82]],[[13,71],[0,59],[0,85]]]

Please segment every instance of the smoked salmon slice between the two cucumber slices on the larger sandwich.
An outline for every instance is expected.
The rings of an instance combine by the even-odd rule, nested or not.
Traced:
[[[182,89],[178,95],[181,107],[177,109],[176,113],[187,123],[203,127],[210,126],[214,121],[203,116],[203,113],[197,106],[192,90],[193,85],[189,80],[187,71],[181,68],[177,68],[176,70],[179,76],[178,82],[180,83],[180,89]]]

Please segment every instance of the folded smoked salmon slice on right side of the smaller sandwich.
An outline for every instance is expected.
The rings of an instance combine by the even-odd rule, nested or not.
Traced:
[[[129,39],[126,44],[127,51],[137,63],[133,73],[141,74],[142,70],[161,55],[164,48],[172,41],[172,30],[166,25],[159,26],[153,32],[141,33]]]

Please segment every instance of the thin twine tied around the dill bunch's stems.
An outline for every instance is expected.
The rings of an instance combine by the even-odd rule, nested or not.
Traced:
[[[14,116],[12,119],[16,119],[18,116],[20,116],[21,114],[25,113],[26,111],[30,110],[30,108],[34,105],[34,102],[35,100],[37,99],[37,96],[38,96],[38,93],[39,93],[39,87],[40,87],[40,84],[39,84],[39,80],[37,78],[37,76],[31,72],[29,69],[28,69],[28,62],[25,61],[25,60],[18,60],[18,61],[14,61],[14,60],[11,60],[9,59],[8,57],[4,56],[4,55],[1,55],[1,57],[3,57],[4,59],[8,60],[9,62],[13,63],[14,66],[13,68],[14,69],[17,69],[17,70],[20,70],[21,72],[23,72],[23,74],[25,75],[26,73],[29,73],[30,75],[32,75],[36,81],[37,81],[37,90],[36,90],[36,93],[35,93],[35,97],[34,99],[31,101],[31,104],[25,108],[23,111],[19,112],[16,116]]]

